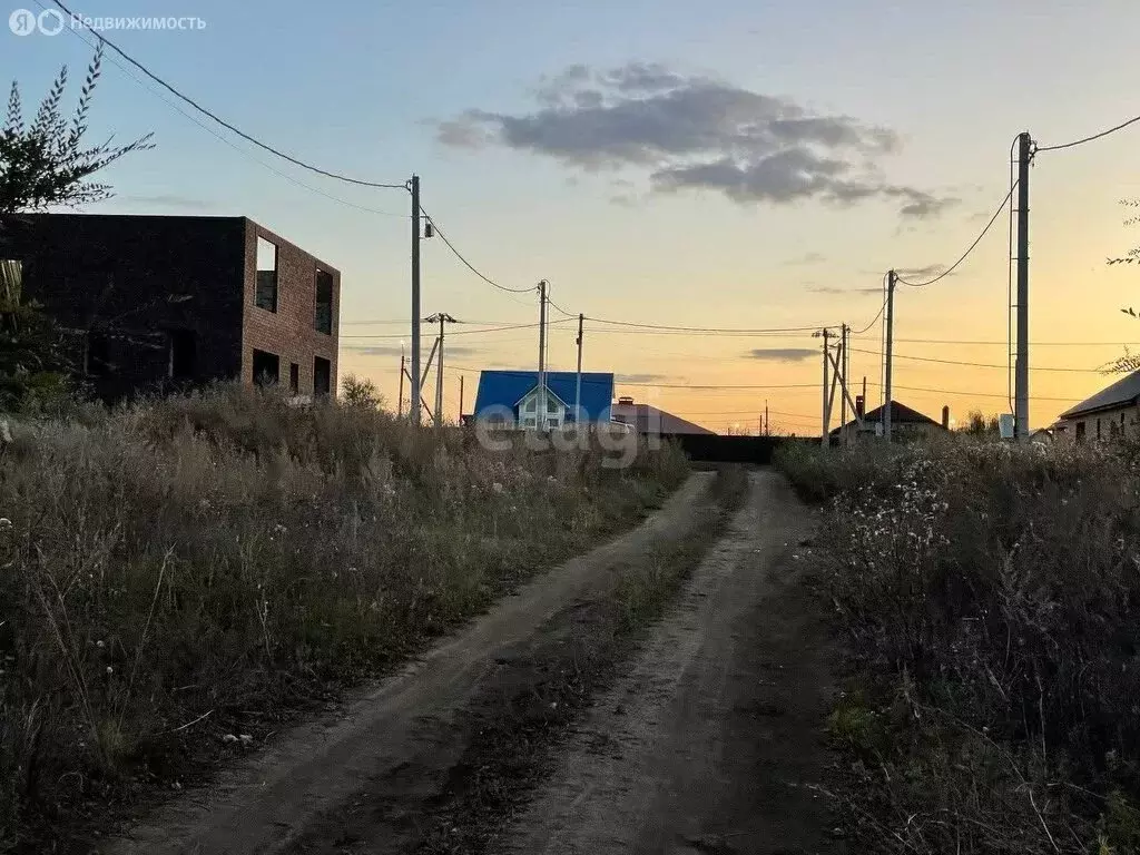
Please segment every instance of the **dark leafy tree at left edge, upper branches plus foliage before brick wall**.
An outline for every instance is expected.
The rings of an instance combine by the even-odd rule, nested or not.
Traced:
[[[150,135],[125,146],[112,140],[85,146],[88,113],[99,80],[103,47],[87,70],[75,112],[62,111],[67,66],[51,84],[34,119],[26,122],[14,81],[0,129],[0,239],[23,225],[21,213],[54,205],[76,206],[108,198],[111,187],[90,180],[131,152],[153,148]],[[72,367],[59,331],[24,294],[23,264],[0,255],[0,408],[19,409],[65,389]]]

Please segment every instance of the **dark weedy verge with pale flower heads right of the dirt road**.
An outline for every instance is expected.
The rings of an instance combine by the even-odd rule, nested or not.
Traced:
[[[789,449],[860,852],[1140,852],[1140,449]]]

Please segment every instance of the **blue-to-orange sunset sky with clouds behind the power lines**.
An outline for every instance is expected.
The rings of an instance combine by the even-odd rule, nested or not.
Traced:
[[[106,35],[290,154],[373,181],[418,173],[425,210],[488,277],[513,288],[546,278],[567,311],[618,321],[862,328],[888,268],[936,272],[977,237],[1009,189],[1019,131],[1048,146],[1140,114],[1137,0],[89,0],[79,10],[202,18],[201,31]],[[70,31],[3,30],[0,78],[17,79],[32,105],[60,64],[79,79],[90,54]],[[157,147],[108,170],[119,195],[89,210],[247,215],[339,267],[341,376],[372,377],[394,406],[407,194],[306,173],[192,121],[142,80],[106,65],[92,138],[153,130]],[[1105,263],[1140,244],[1140,226],[1123,222],[1140,213],[1119,204],[1129,197],[1140,197],[1140,124],[1037,156],[1033,426],[1107,385],[1096,368],[1140,341],[1140,320],[1119,311],[1140,304],[1140,270]],[[959,272],[898,288],[896,400],[935,418],[944,404],[960,420],[1009,410],[1008,251],[1002,214]],[[538,308],[433,238],[423,314],[435,311],[478,327],[535,323]],[[552,327],[554,368],[573,368],[573,326]],[[537,329],[449,332],[465,333],[449,339],[449,416],[459,368],[470,409],[479,368],[536,365]],[[425,329],[425,356],[431,340]],[[585,367],[614,372],[619,394],[719,431],[756,430],[767,401],[773,430],[819,433],[820,343],[808,332],[587,321],[585,340]],[[872,405],[879,344],[874,325],[850,360]]]

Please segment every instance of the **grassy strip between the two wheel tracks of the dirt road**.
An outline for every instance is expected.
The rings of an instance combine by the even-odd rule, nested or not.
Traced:
[[[462,728],[467,749],[432,805],[415,852],[488,850],[524,804],[569,726],[617,675],[643,630],[658,620],[743,502],[740,467],[718,472],[697,529],[618,571],[610,591],[555,616],[538,641],[500,663]]]

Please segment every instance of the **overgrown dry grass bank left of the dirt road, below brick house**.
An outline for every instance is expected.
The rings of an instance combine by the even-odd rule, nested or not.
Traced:
[[[0,852],[66,848],[256,746],[687,474],[673,448],[608,469],[235,388],[11,433]]]

